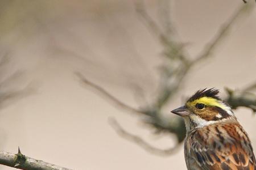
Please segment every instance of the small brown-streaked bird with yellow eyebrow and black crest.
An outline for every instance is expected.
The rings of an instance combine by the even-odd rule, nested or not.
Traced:
[[[185,120],[188,170],[256,170],[250,139],[215,88],[199,90],[171,111]]]

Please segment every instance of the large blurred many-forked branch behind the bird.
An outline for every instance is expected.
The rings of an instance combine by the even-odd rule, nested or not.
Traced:
[[[165,15],[170,15],[170,5],[168,5],[170,1],[163,1],[164,5],[160,6],[160,10],[163,10],[164,12],[160,12],[160,15],[164,16],[160,16],[160,18],[168,19],[168,16]],[[202,52],[198,56],[194,57],[195,59],[191,59],[191,57],[189,57],[188,54],[185,53],[184,43],[181,43],[175,39],[176,29],[171,20],[168,19],[167,23],[162,22],[162,25],[159,25],[147,13],[146,7],[144,7],[143,3],[137,4],[137,12],[139,16],[143,19],[143,22],[146,24],[147,28],[150,29],[152,34],[163,45],[163,56],[165,62],[162,65],[162,72],[160,74],[159,93],[156,97],[156,100],[152,102],[150,107],[146,107],[143,109],[132,108],[129,105],[126,105],[125,103],[120,101],[119,99],[115,98],[104,88],[90,82],[88,79],[82,76],[82,74],[76,74],[77,76],[79,76],[82,83],[89,85],[90,87],[94,88],[94,90],[97,90],[97,92],[99,92],[101,95],[104,95],[117,107],[125,109],[129,112],[135,112],[140,113],[141,115],[145,115],[146,124],[154,127],[159,132],[168,131],[172,134],[175,134],[177,138],[177,143],[175,147],[168,150],[159,150],[158,148],[149,145],[142,138],[128,133],[126,130],[121,128],[117,121],[110,121],[110,124],[121,137],[137,143],[137,145],[154,154],[173,154],[176,150],[176,147],[179,146],[185,138],[184,121],[179,117],[163,117],[162,108],[172,99],[172,97],[180,89],[181,83],[184,82],[185,76],[187,75],[188,71],[190,71],[193,66],[199,64],[199,61],[213,56],[213,52],[216,50],[217,46],[220,45],[221,40],[223,40],[224,37],[227,35],[230,27],[235,22],[237,22],[238,18],[245,14],[245,12],[251,11],[250,7],[251,6],[249,5],[243,5],[238,8],[238,10],[234,12],[232,17],[220,27],[219,31],[216,33],[213,39],[210,40],[207,45],[205,45]],[[253,87],[255,88],[255,85],[251,86],[250,88]],[[241,95],[234,94],[237,94],[237,91],[228,91],[229,96],[227,97],[228,103],[232,105],[234,109],[240,106],[244,106],[251,108],[255,111],[255,95],[253,98],[250,98],[250,100],[248,100],[249,97],[247,96],[247,92],[245,91],[243,91]]]

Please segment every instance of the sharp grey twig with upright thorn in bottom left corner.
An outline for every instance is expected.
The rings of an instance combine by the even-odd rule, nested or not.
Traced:
[[[20,149],[18,154],[0,151],[0,164],[24,170],[72,170],[25,156]]]

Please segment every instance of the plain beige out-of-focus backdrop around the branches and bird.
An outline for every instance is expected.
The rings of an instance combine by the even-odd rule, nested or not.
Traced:
[[[157,19],[158,2],[145,2]],[[187,52],[192,57],[199,53],[240,5],[242,1],[173,1],[172,16],[179,39],[189,42]],[[20,146],[27,156],[73,169],[185,169],[182,148],[161,157],[118,137],[109,117],[152,145],[174,145],[168,135],[155,136],[138,117],[81,86],[73,74],[81,71],[134,107],[144,99],[134,98],[133,84],[143,87],[146,100],[154,97],[162,48],[138,18],[133,1],[14,1],[10,6],[1,18],[1,44],[11,50],[9,70],[23,70],[15,87],[32,82],[35,92],[2,109],[1,150],[16,152]],[[199,88],[217,87],[223,92],[224,87],[253,82],[255,47],[254,10],[233,26],[212,58],[193,68],[166,113]],[[236,115],[256,148],[255,116],[244,108]]]

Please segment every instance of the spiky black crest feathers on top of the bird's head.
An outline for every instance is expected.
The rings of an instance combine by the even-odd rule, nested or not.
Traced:
[[[217,100],[221,100],[220,97],[218,97],[218,89],[216,88],[204,88],[203,90],[199,90],[188,99],[188,101],[194,101],[196,99],[200,99],[201,97],[212,97]]]

